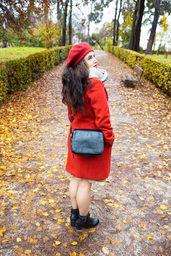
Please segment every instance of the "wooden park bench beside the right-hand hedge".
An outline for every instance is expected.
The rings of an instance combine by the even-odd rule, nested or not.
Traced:
[[[131,72],[122,72],[121,75],[126,83],[140,83],[143,71],[142,68],[135,64]]]

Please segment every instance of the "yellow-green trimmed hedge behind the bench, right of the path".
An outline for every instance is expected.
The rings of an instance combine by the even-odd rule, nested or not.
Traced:
[[[107,46],[106,50],[121,59],[121,61],[131,68],[137,64],[144,70],[143,76],[153,82],[162,92],[171,96],[171,65],[117,46]]]

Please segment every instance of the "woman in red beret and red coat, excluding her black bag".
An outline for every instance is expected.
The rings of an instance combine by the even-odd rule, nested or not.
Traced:
[[[63,103],[72,107],[72,131],[74,129],[96,129],[103,131],[105,145],[103,154],[83,157],[71,152],[68,136],[68,158],[66,171],[72,174],[69,193],[72,204],[71,226],[76,229],[92,228],[99,219],[89,213],[91,186],[95,181],[105,180],[110,173],[111,150],[114,133],[110,123],[108,96],[102,81],[108,78],[105,70],[98,70],[94,50],[88,43],[79,43],[70,49],[67,65],[62,74]]]

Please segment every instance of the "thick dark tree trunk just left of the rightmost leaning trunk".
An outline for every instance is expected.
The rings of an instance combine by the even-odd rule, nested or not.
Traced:
[[[132,30],[129,38],[129,49],[139,52],[140,51],[140,32],[142,16],[144,13],[145,0],[137,0],[136,7],[133,15]]]

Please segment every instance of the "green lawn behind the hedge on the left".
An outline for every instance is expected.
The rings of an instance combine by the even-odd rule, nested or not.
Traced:
[[[39,47],[10,47],[0,48],[0,62],[10,61],[16,58],[23,58],[30,54],[45,51],[46,48]]]

